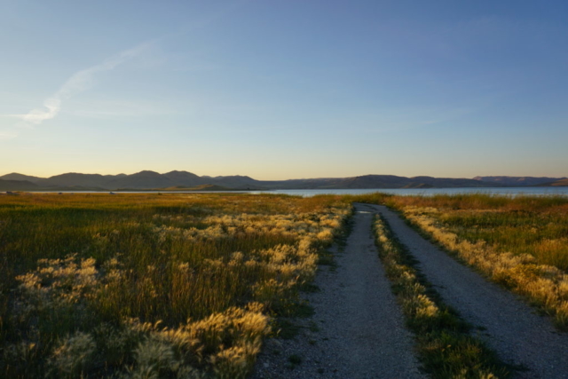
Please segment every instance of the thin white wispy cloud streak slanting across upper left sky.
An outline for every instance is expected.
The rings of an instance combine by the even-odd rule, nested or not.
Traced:
[[[152,43],[154,43],[154,40],[141,43],[138,46],[121,51],[120,53],[105,59],[99,65],[76,72],[74,75],[71,75],[71,77],[63,83],[63,85],[61,85],[59,91],[55,92],[43,101],[43,107],[32,109],[28,112],[28,114],[10,114],[10,116],[19,117],[25,123],[25,125],[20,126],[38,125],[45,120],[54,118],[59,114],[64,100],[70,99],[76,94],[86,91],[94,85],[96,75],[105,71],[111,71],[115,67],[122,65],[122,63],[127,60],[138,56]]]

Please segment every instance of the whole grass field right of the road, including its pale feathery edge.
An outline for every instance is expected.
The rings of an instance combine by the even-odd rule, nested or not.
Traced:
[[[486,194],[385,196],[413,225],[568,329],[568,198]]]

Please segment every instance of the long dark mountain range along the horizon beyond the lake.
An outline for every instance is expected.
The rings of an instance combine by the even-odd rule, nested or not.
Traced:
[[[0,191],[120,191],[184,189],[341,189],[341,188],[459,188],[496,186],[568,186],[568,178],[475,177],[432,178],[364,175],[351,178],[305,178],[256,180],[246,176],[208,177],[187,171],[140,171],[126,175],[99,175],[69,172],[50,178],[12,173],[0,177]]]

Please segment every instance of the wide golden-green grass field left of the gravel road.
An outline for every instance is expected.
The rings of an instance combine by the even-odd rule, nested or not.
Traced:
[[[243,377],[350,211],[337,196],[0,196],[0,376]]]

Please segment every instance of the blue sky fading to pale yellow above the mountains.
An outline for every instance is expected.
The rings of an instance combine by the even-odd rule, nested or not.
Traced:
[[[568,2],[0,0],[0,175],[568,176]]]

